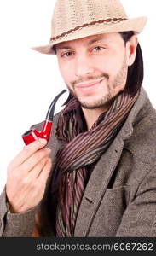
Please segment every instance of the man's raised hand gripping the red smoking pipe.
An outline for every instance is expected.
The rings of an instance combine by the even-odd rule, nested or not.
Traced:
[[[51,170],[46,140],[25,146],[8,166],[6,193],[11,212],[26,212],[42,200]]]

